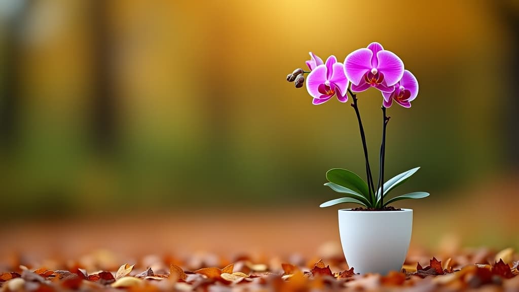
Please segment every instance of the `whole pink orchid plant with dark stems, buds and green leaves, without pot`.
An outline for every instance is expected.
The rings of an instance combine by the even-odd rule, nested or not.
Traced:
[[[386,114],[393,101],[404,108],[411,108],[411,102],[418,95],[416,77],[404,70],[404,63],[393,52],[385,50],[379,43],[371,43],[366,48],[354,50],[344,60],[337,62],[335,56],[330,56],[323,62],[321,58],[310,52],[310,60],[306,61],[310,71],[301,68],[286,76],[287,81],[295,82],[296,88],[303,87],[306,78],[306,89],[313,98],[313,104],[322,104],[334,96],[340,102],[348,101],[351,96],[351,107],[354,109],[359,122],[360,136],[366,161],[366,179],[364,181],[353,171],[333,168],[326,172],[327,187],[344,195],[321,204],[329,207],[340,203],[357,203],[368,209],[390,209],[389,204],[405,199],[424,198],[426,192],[414,192],[385,200],[391,190],[404,183],[418,171],[419,167],[407,170],[384,182],[384,161],[386,153],[386,128],[390,116]],[[351,86],[350,86],[351,83]],[[382,142],[380,145],[379,174],[375,187],[370,161],[367,154],[366,137],[358,107],[357,93],[376,88],[381,92],[382,102]]]

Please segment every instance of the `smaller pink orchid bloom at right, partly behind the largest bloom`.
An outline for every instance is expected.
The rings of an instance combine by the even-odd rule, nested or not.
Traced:
[[[393,100],[404,108],[411,108],[411,101],[418,95],[418,81],[416,77],[404,70],[404,75],[397,84],[394,85],[393,92],[382,92],[384,96],[384,107],[389,108]]]

